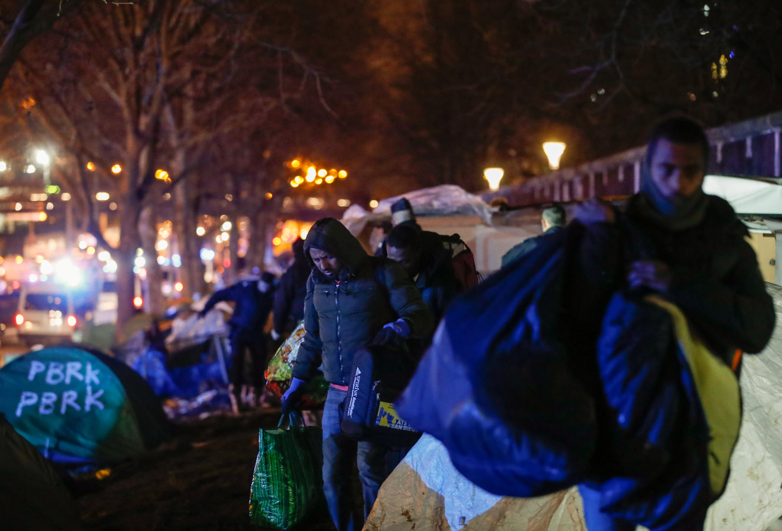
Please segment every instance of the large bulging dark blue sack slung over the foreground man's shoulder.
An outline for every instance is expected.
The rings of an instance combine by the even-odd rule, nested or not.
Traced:
[[[564,265],[581,226],[450,306],[396,411],[447,447],[459,472],[493,494],[534,497],[587,477],[594,401],[558,340]]]

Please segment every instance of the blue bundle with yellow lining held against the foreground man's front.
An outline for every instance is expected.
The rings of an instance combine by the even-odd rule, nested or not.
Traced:
[[[601,429],[623,471],[590,484],[601,511],[653,531],[702,529],[738,438],[736,376],[691,335],[683,313],[654,294],[615,294],[597,362],[615,413],[615,424]]]

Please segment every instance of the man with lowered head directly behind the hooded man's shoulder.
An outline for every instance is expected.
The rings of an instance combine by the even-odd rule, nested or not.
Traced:
[[[450,263],[450,252],[438,241],[424,242],[421,232],[407,224],[395,226],[386,238],[388,257],[400,265],[413,280],[421,298],[435,317],[435,323],[443,319],[450,301],[460,294],[464,287],[454,273]],[[411,350],[421,355],[431,343],[425,340],[411,340]]]

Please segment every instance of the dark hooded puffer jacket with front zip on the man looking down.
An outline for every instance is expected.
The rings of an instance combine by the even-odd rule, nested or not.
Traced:
[[[343,263],[339,286],[314,267],[310,248],[326,251]],[[320,219],[312,226],[304,253],[312,273],[304,299],[307,333],[293,365],[296,378],[310,380],[322,362],[326,381],[347,385],[353,353],[371,344],[383,325],[401,318],[410,326],[410,337],[426,337],[432,331],[432,312],[401,265],[369,256],[336,219]],[[400,364],[415,362],[404,349],[387,355],[399,355]]]

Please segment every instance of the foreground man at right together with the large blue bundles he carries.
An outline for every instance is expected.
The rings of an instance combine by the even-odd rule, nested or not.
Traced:
[[[771,298],[730,205],[701,190],[708,140],[659,123],[626,212],[576,223],[457,299],[397,411],[493,494],[579,485],[589,531],[702,529],[741,421],[741,352]]]

